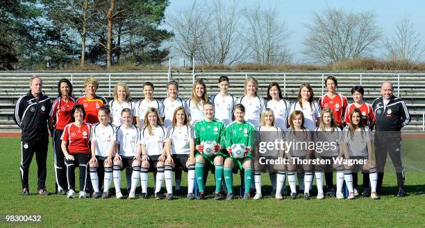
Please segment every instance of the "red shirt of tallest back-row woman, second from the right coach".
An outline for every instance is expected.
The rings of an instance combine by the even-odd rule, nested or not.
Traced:
[[[344,123],[343,115],[348,106],[348,101],[345,96],[336,94],[334,98],[330,98],[327,94],[324,94],[319,98],[319,105],[322,107],[322,110],[326,108],[333,109],[333,117],[335,117],[335,121],[338,125]]]

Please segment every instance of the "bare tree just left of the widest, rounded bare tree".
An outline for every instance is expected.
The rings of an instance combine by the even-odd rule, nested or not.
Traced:
[[[281,64],[292,60],[292,54],[286,48],[290,33],[285,21],[278,21],[276,8],[263,9],[260,3],[245,10],[249,28],[247,42],[253,60],[260,64]]]

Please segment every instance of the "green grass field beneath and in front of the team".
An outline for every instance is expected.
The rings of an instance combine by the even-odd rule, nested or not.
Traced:
[[[407,198],[394,197],[395,174],[388,166],[381,200],[69,200],[64,195],[35,195],[37,166],[31,164],[29,197],[21,195],[17,138],[0,138],[0,227],[425,227],[424,139],[403,141]],[[387,162],[391,164],[391,162]],[[47,188],[54,191],[53,154],[47,161]],[[184,175],[184,174],[183,174]],[[76,175],[78,177],[78,175]],[[124,175],[123,175],[124,176]],[[359,175],[359,183],[361,182]],[[268,175],[263,178],[268,193]],[[334,177],[335,178],[335,177]],[[123,179],[122,186],[125,186]],[[149,186],[153,186],[149,175]],[[335,181],[334,181],[335,182]],[[76,182],[78,183],[78,181]],[[235,175],[234,183],[240,183]],[[113,185],[113,184],[112,184]],[[183,189],[186,182],[183,176]],[[208,177],[213,185],[213,175]],[[77,184],[78,188],[78,184]],[[207,188],[212,191],[213,188]],[[238,189],[238,186],[235,187]],[[315,186],[313,186],[315,190]],[[149,188],[149,191],[153,191]],[[237,191],[237,190],[236,190]],[[315,191],[313,192],[315,195]],[[5,215],[42,215],[42,222],[5,223]]]

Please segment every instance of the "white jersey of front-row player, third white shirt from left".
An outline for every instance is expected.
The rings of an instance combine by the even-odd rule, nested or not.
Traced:
[[[152,130],[152,135],[149,134],[147,128],[143,128],[139,143],[144,145],[148,156],[162,155],[165,143],[165,128],[157,125],[156,128]]]

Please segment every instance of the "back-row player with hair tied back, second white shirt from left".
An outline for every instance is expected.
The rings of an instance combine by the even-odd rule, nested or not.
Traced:
[[[144,99],[139,100],[138,103],[135,104],[135,119],[136,125],[138,125],[139,128],[142,128],[144,125],[144,116],[149,107],[156,108],[159,117],[164,119],[164,105],[153,98],[153,84],[151,82],[144,82],[143,94]]]

